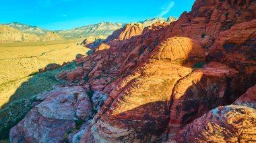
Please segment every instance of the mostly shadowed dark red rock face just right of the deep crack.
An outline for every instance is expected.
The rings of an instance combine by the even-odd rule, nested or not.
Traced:
[[[168,136],[171,138],[186,124],[239,97],[253,76],[241,76],[234,68],[218,62],[205,64],[179,80],[172,92]]]

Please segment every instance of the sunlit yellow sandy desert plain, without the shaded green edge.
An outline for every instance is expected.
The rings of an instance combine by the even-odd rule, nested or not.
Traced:
[[[31,73],[47,64],[74,60],[88,50],[73,41],[0,44],[0,109],[22,83],[32,78]]]

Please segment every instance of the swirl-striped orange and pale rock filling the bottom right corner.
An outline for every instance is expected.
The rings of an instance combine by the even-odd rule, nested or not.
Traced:
[[[232,105],[205,113],[168,142],[255,142],[255,91],[256,85]]]

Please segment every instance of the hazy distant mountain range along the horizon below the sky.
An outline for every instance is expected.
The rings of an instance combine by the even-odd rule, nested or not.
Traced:
[[[156,21],[175,21],[174,17],[168,17],[166,20],[163,17],[156,17],[153,19],[146,19],[139,21],[144,27],[151,26]],[[116,30],[123,28],[125,23],[101,22],[80,28],[73,28],[71,30],[51,31],[39,28],[37,26],[30,26],[18,22],[0,24],[0,43],[5,42],[37,42],[37,41],[55,41],[63,39],[77,39],[89,37],[103,37],[107,38]]]

